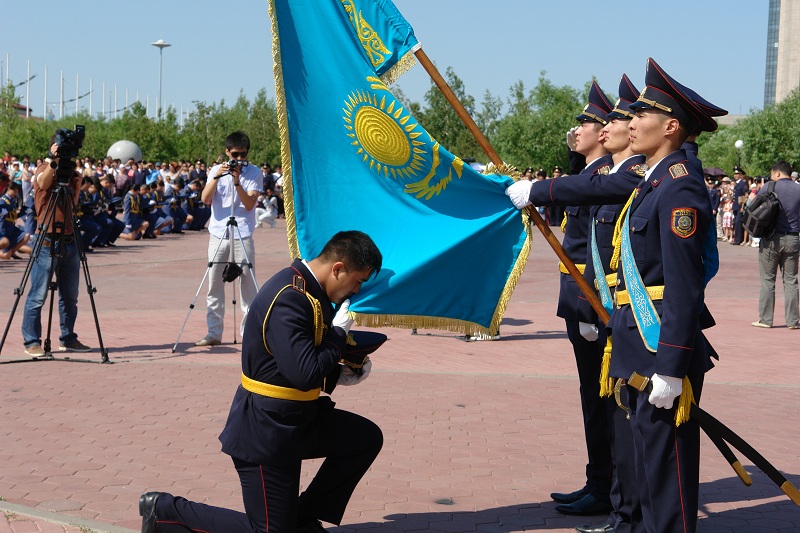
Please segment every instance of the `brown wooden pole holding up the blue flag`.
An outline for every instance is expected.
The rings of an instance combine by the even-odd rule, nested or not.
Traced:
[[[497,152],[494,150],[494,148],[492,148],[492,145],[489,144],[489,140],[478,128],[478,125],[475,124],[475,121],[472,120],[472,117],[464,108],[464,105],[436,69],[436,66],[433,64],[433,62],[428,58],[427,54],[422,51],[422,48],[420,48],[414,52],[414,55],[416,56],[420,65],[422,65],[422,67],[431,77],[433,83],[436,84],[444,97],[453,107],[458,117],[467,126],[467,129],[483,149],[484,153],[489,156],[489,160],[494,163],[496,167],[500,168],[503,165],[503,160],[500,159],[500,156],[497,155]],[[550,227],[545,223],[544,220],[542,220],[541,215],[539,215],[539,212],[536,209],[533,209],[531,206],[528,206],[526,209],[528,210],[528,215],[530,216],[531,220],[533,220],[533,223],[537,228],[539,228],[539,231],[542,233],[542,235],[544,235],[545,240],[550,244],[550,247],[567,268],[567,271],[572,276],[572,279],[574,279],[578,284],[578,287],[581,289],[581,292],[583,292],[583,295],[586,296],[587,300],[589,300],[589,303],[592,305],[592,309],[595,310],[597,316],[599,316],[600,320],[603,321],[603,324],[608,324],[608,321],[611,317],[609,316],[605,307],[603,307],[600,299],[595,294],[594,289],[589,285],[589,283],[586,281],[586,278],[584,278],[583,274],[581,274],[578,270],[578,267],[575,266],[575,263],[572,262],[567,253],[564,251],[564,248],[561,246],[558,238],[553,234],[552,231],[550,231]]]

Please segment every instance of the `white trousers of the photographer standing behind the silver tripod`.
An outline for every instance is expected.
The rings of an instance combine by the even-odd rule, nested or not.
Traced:
[[[232,229],[232,228],[230,228]],[[212,263],[211,271],[208,273],[208,296],[206,303],[206,323],[208,324],[208,335],[214,339],[222,340],[225,318],[225,282],[222,280],[222,271],[230,261],[229,238],[218,239],[211,235],[208,241],[208,261]],[[244,248],[242,248],[244,246]],[[216,254],[215,254],[216,252]],[[247,258],[245,258],[247,252]],[[243,237],[233,239],[233,261],[242,267],[242,274],[232,282],[235,287],[239,284],[239,306],[242,309],[242,322],[239,327],[240,334],[244,334],[244,322],[247,318],[247,311],[250,310],[250,303],[258,293],[255,280],[255,258],[256,249],[253,238]],[[253,269],[247,266],[247,259],[253,265]],[[235,289],[234,289],[235,290]]]

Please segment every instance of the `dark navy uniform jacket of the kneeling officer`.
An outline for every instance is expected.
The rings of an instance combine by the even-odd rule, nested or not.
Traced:
[[[314,346],[312,305],[303,292],[291,287],[296,285],[295,276],[303,278],[305,290],[322,305],[325,333],[319,346]],[[333,316],[325,291],[303,262],[295,260],[264,284],[250,306],[242,339],[242,372],[262,383],[332,392],[346,344],[344,330],[331,327]],[[319,438],[314,424],[317,414],[332,408],[327,396],[314,401],[281,400],[251,393],[240,385],[219,437],[222,451],[256,464],[302,457],[303,450]]]

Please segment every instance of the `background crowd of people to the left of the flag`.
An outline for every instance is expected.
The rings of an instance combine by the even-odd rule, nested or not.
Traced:
[[[0,162],[0,259],[20,259],[32,251],[30,239],[40,223],[32,178],[44,162],[8,151]],[[138,241],[199,231],[211,216],[201,199],[208,180],[203,159],[161,163],[86,156],[75,163],[81,182],[73,213],[80,221],[84,252],[114,247],[120,238]],[[258,189],[256,227],[274,228],[284,216],[280,165],[260,166]]]

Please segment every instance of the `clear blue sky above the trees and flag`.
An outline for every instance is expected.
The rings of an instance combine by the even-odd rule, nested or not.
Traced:
[[[323,0],[315,0],[323,1]],[[124,8],[122,6],[125,6]],[[597,0],[395,0],[428,56],[440,71],[449,66],[480,103],[486,90],[505,101],[516,81],[532,88],[544,70],[556,85],[582,88],[595,76],[617,92],[627,73],[637,87],[652,56],[678,81],[731,113],[761,108],[764,100],[767,0],[671,0],[649,4]],[[193,101],[224,99],[259,89],[275,93],[267,0],[31,0],[4,2],[0,76],[14,83],[31,73],[29,105],[43,114],[57,104],[64,72],[64,98],[95,91],[92,111],[158,95],[159,51],[163,52],[163,96],[177,110]],[[406,96],[422,102],[430,87],[415,66],[398,81]],[[25,104],[25,86],[17,89]],[[67,104],[67,113],[75,104]],[[88,97],[81,99],[88,108]],[[58,116],[57,105],[52,107]]]

